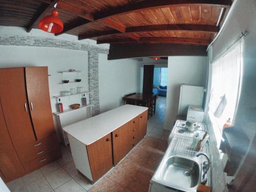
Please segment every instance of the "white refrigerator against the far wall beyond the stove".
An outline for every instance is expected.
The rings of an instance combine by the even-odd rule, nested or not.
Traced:
[[[180,100],[178,115],[187,115],[188,105],[203,105],[204,87],[182,84],[180,87]]]

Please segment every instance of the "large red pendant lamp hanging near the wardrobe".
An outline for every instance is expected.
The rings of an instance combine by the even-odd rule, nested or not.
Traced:
[[[39,29],[46,31],[48,33],[60,33],[63,31],[63,23],[58,18],[58,11],[55,10],[56,5],[54,5],[54,9],[52,10],[52,15],[46,16],[42,18],[39,22]]]

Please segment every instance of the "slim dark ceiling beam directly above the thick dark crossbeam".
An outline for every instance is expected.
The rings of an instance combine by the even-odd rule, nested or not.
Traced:
[[[115,38],[97,40],[97,44],[122,44],[127,42],[136,42],[131,38]],[[188,38],[188,37],[140,37],[140,42],[161,42],[176,44],[193,44],[193,45],[209,45],[208,39]]]

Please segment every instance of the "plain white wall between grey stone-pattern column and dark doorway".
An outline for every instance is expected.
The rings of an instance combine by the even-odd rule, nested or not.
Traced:
[[[140,61],[107,58],[99,54],[100,113],[122,105],[125,94],[140,92]]]

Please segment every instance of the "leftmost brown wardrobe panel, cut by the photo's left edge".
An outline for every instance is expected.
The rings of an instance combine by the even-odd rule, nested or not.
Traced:
[[[5,182],[12,181],[25,174],[22,163],[16,154],[9,136],[0,103],[0,175]]]

